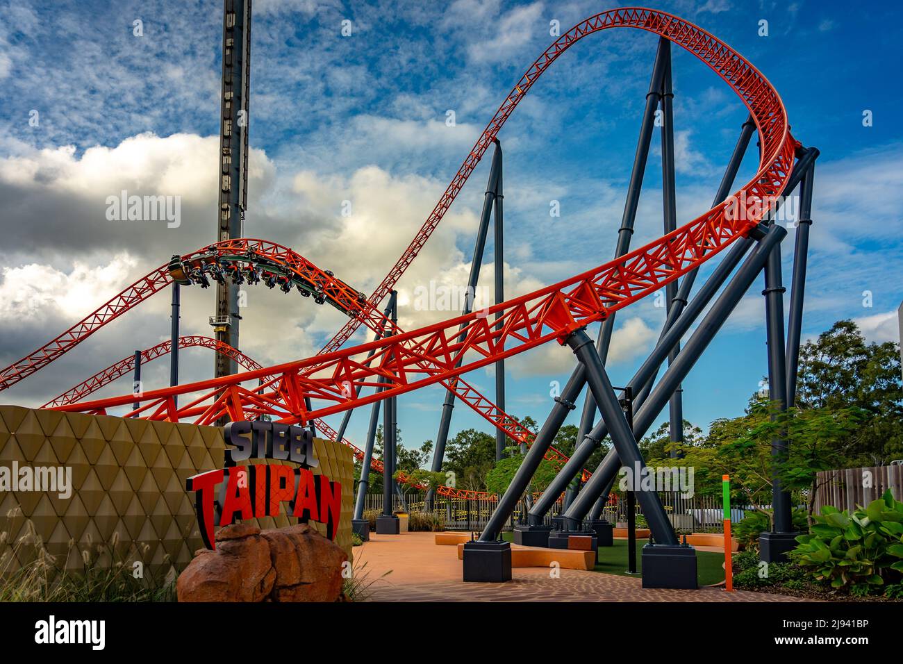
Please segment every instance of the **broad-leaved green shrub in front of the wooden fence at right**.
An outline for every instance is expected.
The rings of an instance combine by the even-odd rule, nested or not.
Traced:
[[[790,556],[816,581],[854,596],[903,577],[903,503],[885,491],[865,509],[825,506]]]

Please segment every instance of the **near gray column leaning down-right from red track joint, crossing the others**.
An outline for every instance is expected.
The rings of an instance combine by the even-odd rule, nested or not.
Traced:
[[[645,467],[643,456],[639,453],[637,439],[628,426],[627,418],[624,416],[624,411],[621,410],[614,388],[611,387],[599,353],[593,347],[589,335],[582,329],[568,337],[567,343],[573,349],[578,360],[586,367],[586,380],[592,390],[592,397],[599,406],[602,419],[609,427],[613,449],[617,450],[624,465],[631,472],[635,472],[633,477],[638,480],[638,473]],[[637,484],[638,482],[632,482],[631,488],[643,508],[643,514],[646,516],[653,537],[656,538],[656,543],[678,544],[675,529],[671,526],[656,491],[654,489],[653,491],[644,491],[642,485],[637,486]]]

